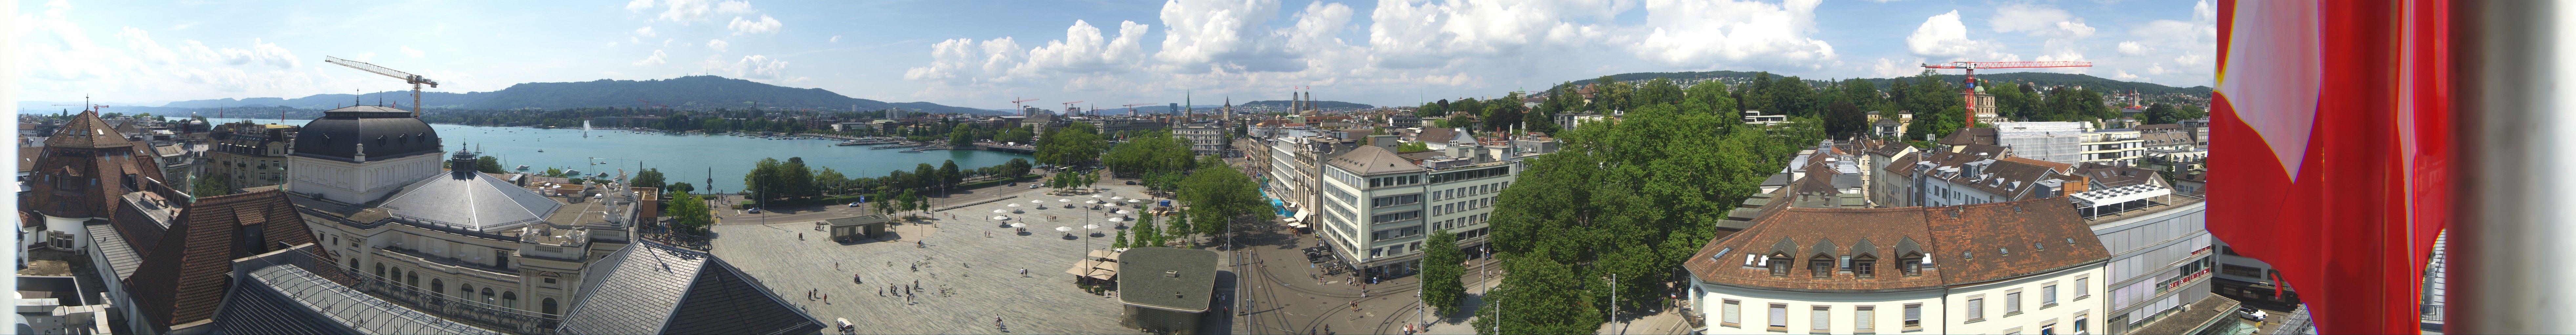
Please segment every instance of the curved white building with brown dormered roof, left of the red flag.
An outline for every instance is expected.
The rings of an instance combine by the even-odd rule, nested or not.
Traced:
[[[1757,211],[1682,263],[1700,332],[2099,332],[2110,253],[2063,198]]]

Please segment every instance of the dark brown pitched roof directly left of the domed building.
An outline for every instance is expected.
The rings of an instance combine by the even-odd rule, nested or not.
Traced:
[[[240,237],[240,227],[252,227],[260,240]],[[206,196],[180,211],[170,232],[157,242],[137,245],[144,260],[126,289],[134,291],[134,309],[155,327],[185,325],[214,317],[229,286],[232,258],[283,250],[286,245],[314,242],[312,229],[281,191]],[[245,250],[258,245],[258,250]],[[330,258],[327,253],[319,258]]]

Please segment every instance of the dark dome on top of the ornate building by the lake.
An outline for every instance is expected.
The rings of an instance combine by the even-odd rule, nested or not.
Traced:
[[[415,119],[412,111],[348,106],[322,111],[322,119],[304,124],[294,149],[301,157],[358,162],[361,144],[366,147],[366,160],[435,155],[438,131],[428,121]]]

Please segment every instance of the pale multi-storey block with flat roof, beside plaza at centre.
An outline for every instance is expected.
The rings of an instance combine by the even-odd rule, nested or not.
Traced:
[[[1394,152],[1396,137],[1368,137],[1368,144],[1327,155],[1311,224],[1334,255],[1368,276],[1409,276],[1419,271],[1430,229],[1458,235],[1458,245],[1481,245],[1492,222],[1494,196],[1517,178],[1517,165],[1481,147],[1455,147],[1458,157],[1422,162]]]

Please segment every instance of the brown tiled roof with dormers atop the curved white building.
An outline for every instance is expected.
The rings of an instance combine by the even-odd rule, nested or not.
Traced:
[[[1788,276],[1744,265],[1747,255],[1767,258],[1775,253],[1790,258]],[[1878,258],[1875,278],[1852,273],[1816,278],[1806,260],[1819,253],[1834,260],[1873,255]],[[1922,276],[1899,271],[1899,260],[1911,253],[1932,258]],[[1772,209],[1752,219],[1744,232],[1710,240],[1698,255],[1682,260],[1682,268],[1700,281],[1749,289],[1911,291],[2030,276],[2107,258],[2102,240],[2066,198],[2030,198],[1971,206]]]

